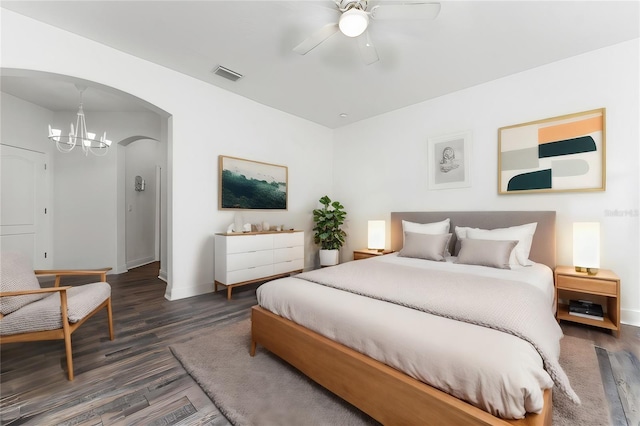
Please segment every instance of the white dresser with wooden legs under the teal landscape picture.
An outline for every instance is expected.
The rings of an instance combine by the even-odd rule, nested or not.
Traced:
[[[231,290],[304,269],[304,232],[247,232],[215,235],[215,291]]]

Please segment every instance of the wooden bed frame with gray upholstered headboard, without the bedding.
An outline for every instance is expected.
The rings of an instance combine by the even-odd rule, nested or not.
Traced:
[[[452,231],[456,225],[494,229],[538,222],[530,258],[555,268],[555,212],[391,213],[392,249],[401,248],[403,219],[430,223],[447,217],[451,219]],[[455,240],[451,242],[451,247],[453,253]],[[529,414],[522,420],[500,419],[290,320],[254,306],[251,311],[252,356],[255,355],[258,344],[385,425],[551,426],[553,404],[550,389],[544,392],[542,413]]]

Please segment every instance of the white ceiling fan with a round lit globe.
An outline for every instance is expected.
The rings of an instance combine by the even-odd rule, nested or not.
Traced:
[[[368,0],[334,0],[341,12],[338,22],[330,23],[313,34],[293,51],[301,55],[310,52],[314,47],[337,33],[347,37],[356,37],[362,59],[367,65],[378,61],[378,52],[371,42],[367,27],[369,20],[425,19],[432,20],[440,13],[440,3],[409,2],[399,4],[379,4],[367,10]]]

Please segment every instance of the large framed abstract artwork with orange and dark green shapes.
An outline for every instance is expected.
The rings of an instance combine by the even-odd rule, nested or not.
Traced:
[[[605,109],[498,130],[498,192],[604,191]]]

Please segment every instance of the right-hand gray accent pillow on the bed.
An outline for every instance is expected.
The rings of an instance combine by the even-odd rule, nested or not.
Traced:
[[[460,252],[456,263],[511,269],[509,257],[517,244],[518,241],[463,238],[460,240]]]

